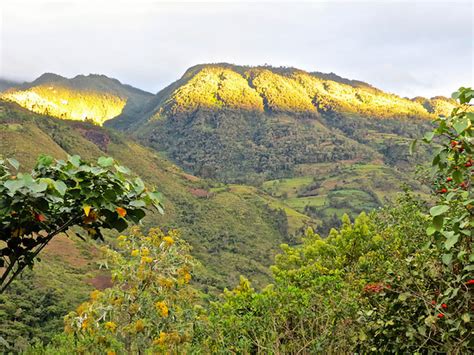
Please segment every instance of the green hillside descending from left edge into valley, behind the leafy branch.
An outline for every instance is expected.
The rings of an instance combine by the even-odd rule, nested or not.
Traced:
[[[37,115],[0,100],[0,155],[15,157],[29,168],[39,154],[79,154],[88,160],[109,155],[156,186],[165,197],[166,212],[148,216],[145,226],[179,228],[204,265],[198,282],[206,287],[229,287],[240,274],[264,284],[279,245],[294,243],[298,231],[315,225],[263,191],[187,174],[121,134],[87,122]]]

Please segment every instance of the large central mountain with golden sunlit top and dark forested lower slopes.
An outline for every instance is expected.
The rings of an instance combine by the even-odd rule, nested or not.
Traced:
[[[407,165],[407,146],[446,98],[410,100],[336,74],[204,64],[160,91],[139,115],[107,125],[163,151],[187,171],[227,182],[291,177],[301,165]]]

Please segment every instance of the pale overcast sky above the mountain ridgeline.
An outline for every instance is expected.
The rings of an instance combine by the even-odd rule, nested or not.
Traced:
[[[461,1],[0,0],[0,77],[100,73],[157,92],[195,64],[334,72],[402,96],[474,85]]]

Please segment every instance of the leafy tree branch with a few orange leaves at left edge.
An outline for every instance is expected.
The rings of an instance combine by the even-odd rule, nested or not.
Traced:
[[[30,173],[14,159],[0,160],[0,293],[59,233],[78,226],[94,239],[101,229],[123,231],[145,210],[162,212],[160,195],[112,158],[88,164],[40,156]]]

